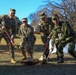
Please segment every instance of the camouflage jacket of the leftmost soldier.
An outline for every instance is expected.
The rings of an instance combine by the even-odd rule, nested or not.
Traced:
[[[3,15],[1,19],[1,25],[5,26],[6,31],[10,33],[11,35],[16,35],[16,22],[15,19],[10,19],[8,15]],[[0,30],[1,32],[1,30]]]

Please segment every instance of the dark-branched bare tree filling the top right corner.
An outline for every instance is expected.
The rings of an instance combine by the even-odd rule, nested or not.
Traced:
[[[60,2],[59,2],[60,1]],[[52,13],[58,13],[63,20],[67,20],[72,27],[76,26],[76,0],[45,0],[46,6],[52,8]],[[59,11],[59,12],[58,12]]]

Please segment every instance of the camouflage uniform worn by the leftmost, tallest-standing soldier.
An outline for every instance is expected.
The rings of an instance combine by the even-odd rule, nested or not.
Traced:
[[[12,40],[14,40],[14,37],[16,35],[16,22],[14,18],[10,19],[8,15],[3,15],[1,20],[1,26],[5,26],[9,36],[12,38]],[[8,38],[7,34],[0,28],[0,40],[2,39],[2,37],[5,39],[8,45],[11,58],[14,59],[14,46],[11,44],[11,41]]]

